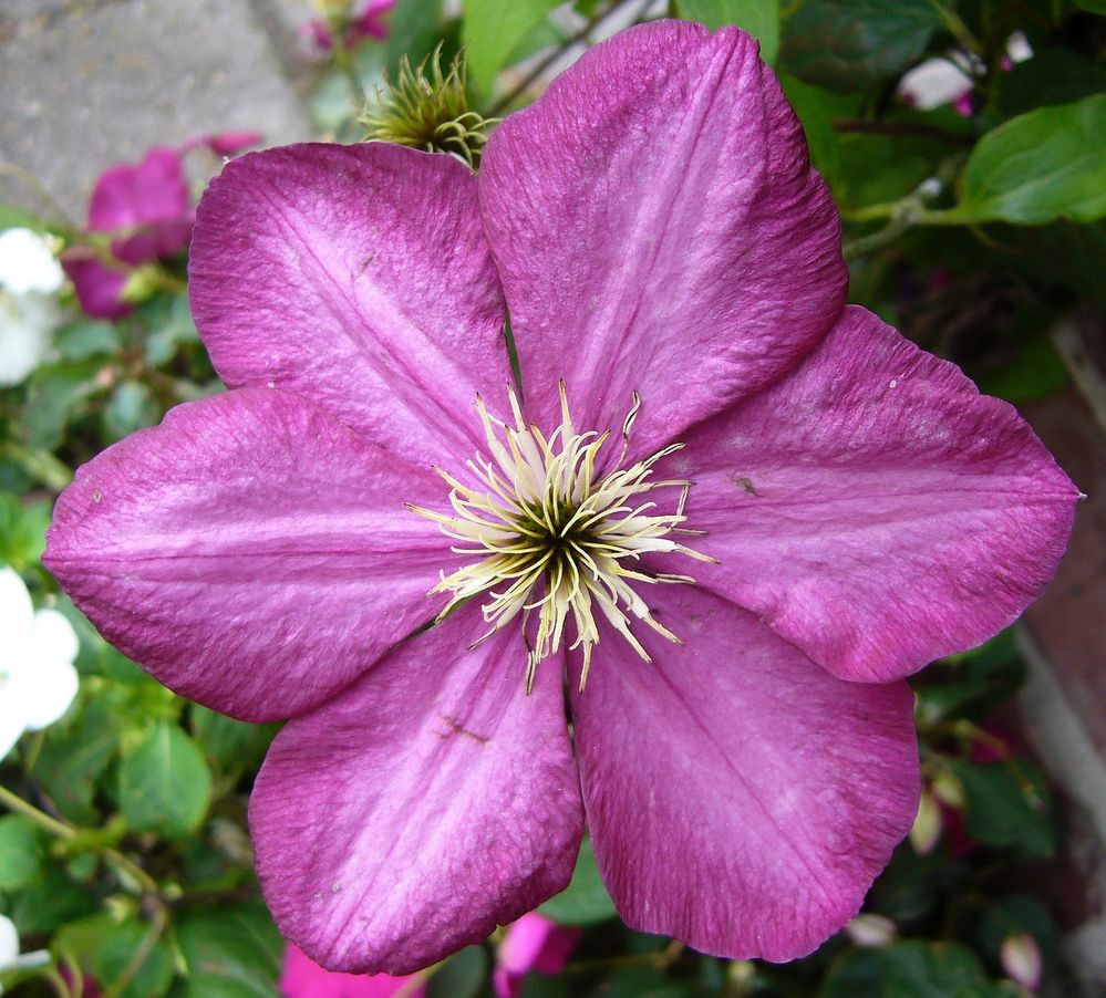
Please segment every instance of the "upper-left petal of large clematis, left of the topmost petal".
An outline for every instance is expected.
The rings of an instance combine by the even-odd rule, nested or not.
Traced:
[[[476,180],[383,143],[232,160],[200,201],[193,314],[231,387],[276,385],[416,461],[471,456],[503,410],[503,298]]]

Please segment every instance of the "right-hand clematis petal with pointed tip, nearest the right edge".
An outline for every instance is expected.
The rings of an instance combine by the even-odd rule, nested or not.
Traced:
[[[1012,623],[1052,579],[1078,491],[954,365],[850,306],[787,378],[673,457],[695,578],[847,679],[908,675]]]

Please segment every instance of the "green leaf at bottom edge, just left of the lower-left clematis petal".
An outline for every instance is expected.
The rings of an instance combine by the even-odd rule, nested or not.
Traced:
[[[177,925],[193,998],[277,998],[283,940],[265,905],[189,912]]]

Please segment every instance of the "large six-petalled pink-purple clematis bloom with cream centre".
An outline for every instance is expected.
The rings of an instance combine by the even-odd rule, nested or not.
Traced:
[[[192,305],[230,391],[84,466],[45,561],[166,685],[291,718],[250,825],[313,959],[483,938],[585,815],[638,929],[786,960],[857,913],[918,804],[902,677],[1041,592],[1077,492],[846,281],[735,29],[596,46],[478,177],[310,144],[213,183]]]

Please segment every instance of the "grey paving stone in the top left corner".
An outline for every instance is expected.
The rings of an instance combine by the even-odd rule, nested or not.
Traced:
[[[96,175],[208,132],[310,123],[257,0],[0,0],[0,160],[76,219]],[[0,199],[33,196],[0,177]]]

